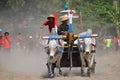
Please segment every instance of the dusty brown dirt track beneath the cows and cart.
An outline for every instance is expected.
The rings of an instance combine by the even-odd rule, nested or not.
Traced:
[[[43,51],[41,51],[43,52]],[[41,53],[40,53],[41,54]],[[0,57],[0,80],[51,80],[46,78],[46,54],[12,54]],[[19,57],[18,57],[19,56]],[[120,52],[96,57],[96,74],[81,77],[80,69],[73,69],[72,76],[62,76],[53,80],[120,80]],[[67,70],[68,69],[64,69]]]

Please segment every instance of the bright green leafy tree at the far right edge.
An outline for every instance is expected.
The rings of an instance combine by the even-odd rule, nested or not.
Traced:
[[[120,6],[118,1],[113,1],[113,6],[108,6],[106,17],[116,25],[117,35],[120,36]]]

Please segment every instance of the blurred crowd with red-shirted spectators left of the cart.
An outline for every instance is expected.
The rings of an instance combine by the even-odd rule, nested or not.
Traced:
[[[13,38],[9,32],[0,31],[0,52],[10,53],[11,51],[35,51],[40,48],[40,36],[29,35],[25,37],[22,33]]]

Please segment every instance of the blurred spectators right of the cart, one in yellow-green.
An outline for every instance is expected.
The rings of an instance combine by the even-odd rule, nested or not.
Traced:
[[[120,37],[118,36],[101,36],[98,40],[98,48],[102,50],[119,51],[120,50]]]

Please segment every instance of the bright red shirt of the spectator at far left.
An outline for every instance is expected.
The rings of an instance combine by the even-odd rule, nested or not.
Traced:
[[[12,38],[10,36],[6,36],[2,38],[2,44],[4,46],[4,48],[11,48],[11,42],[12,42]]]

